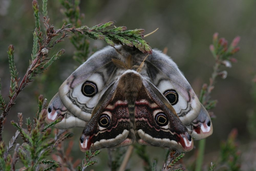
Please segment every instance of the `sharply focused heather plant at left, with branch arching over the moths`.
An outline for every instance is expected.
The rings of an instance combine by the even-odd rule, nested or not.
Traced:
[[[68,8],[70,2],[62,2],[63,6]],[[75,1],[74,5],[78,7],[79,1]],[[32,7],[35,16],[35,31],[33,33],[34,43],[33,50],[31,54],[31,60],[29,61],[29,66],[27,72],[25,73],[23,79],[20,81],[18,78],[18,72],[14,63],[14,46],[10,45],[8,47],[8,58],[9,58],[9,68],[11,75],[10,91],[9,91],[9,102],[6,104],[4,98],[0,94],[1,110],[3,111],[0,117],[0,142],[1,142],[1,168],[3,170],[15,170],[15,164],[17,160],[23,163],[24,167],[20,170],[51,170],[60,167],[60,163],[55,160],[46,159],[52,151],[66,138],[72,136],[72,134],[66,130],[57,131],[55,138],[50,138],[51,127],[58,123],[60,120],[45,125],[44,119],[46,117],[45,107],[46,100],[44,101],[42,96],[39,97],[38,111],[34,117],[33,124],[30,118],[26,119],[26,129],[22,128],[23,125],[23,115],[18,114],[19,123],[12,121],[11,124],[17,128],[15,136],[10,140],[9,146],[7,146],[7,151],[5,151],[5,144],[2,139],[3,133],[3,122],[10,112],[10,109],[15,104],[15,100],[19,93],[28,85],[29,82],[33,81],[33,78],[38,74],[46,70],[55,60],[57,60],[63,53],[64,49],[59,50],[55,55],[48,58],[49,50],[52,49],[56,44],[63,41],[65,37],[69,35],[67,32],[78,32],[81,35],[87,35],[93,39],[101,39],[106,41],[110,46],[114,48],[114,43],[116,44],[126,44],[128,46],[135,46],[145,53],[152,53],[151,47],[143,39],[143,29],[126,30],[126,27],[113,27],[110,28],[114,23],[108,22],[105,24],[98,24],[97,26],[89,28],[88,26],[81,27],[70,27],[71,24],[63,24],[60,29],[54,29],[54,26],[50,24],[50,19],[47,16],[47,0],[42,1],[42,14],[44,18],[45,34],[42,32],[39,5],[36,0],[33,0]],[[72,20],[72,15],[66,13],[69,17],[68,21]],[[79,13],[74,13],[75,26],[78,26]],[[60,36],[59,36],[60,35]],[[74,36],[71,38],[71,42],[77,50],[88,50],[88,44],[78,45],[84,42],[84,36]],[[117,49],[116,49],[117,50]],[[77,53],[78,57],[88,56],[88,52],[85,54]],[[81,62],[81,59],[79,59]],[[1,93],[1,84],[0,84]],[[16,144],[18,135],[23,139],[23,144]],[[9,154],[10,149],[16,144],[13,156]],[[86,157],[83,160],[82,166],[78,169],[84,170],[86,167],[97,163],[97,161],[90,160],[91,157],[97,155],[99,151],[86,152]],[[40,164],[50,165],[50,167],[44,168]]]

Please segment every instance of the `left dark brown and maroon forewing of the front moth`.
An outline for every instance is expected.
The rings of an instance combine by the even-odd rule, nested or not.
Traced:
[[[128,101],[116,81],[103,94],[80,137],[82,151],[130,145],[134,139]]]

